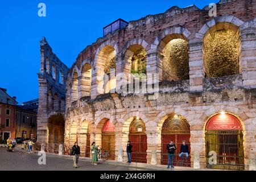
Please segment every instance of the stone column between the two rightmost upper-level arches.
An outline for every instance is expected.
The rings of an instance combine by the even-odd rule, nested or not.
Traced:
[[[203,91],[204,62],[203,42],[193,39],[189,41],[189,85],[191,92]]]

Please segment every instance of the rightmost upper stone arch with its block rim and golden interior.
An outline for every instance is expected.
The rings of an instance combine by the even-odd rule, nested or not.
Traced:
[[[244,22],[235,16],[226,15],[209,20],[197,33],[197,37],[203,40],[203,63],[207,77],[241,73],[242,24]],[[218,61],[212,61],[215,59]]]

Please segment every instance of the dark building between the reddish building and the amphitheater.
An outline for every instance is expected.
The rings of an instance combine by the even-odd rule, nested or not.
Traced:
[[[36,138],[38,99],[21,103],[16,108],[16,137]]]

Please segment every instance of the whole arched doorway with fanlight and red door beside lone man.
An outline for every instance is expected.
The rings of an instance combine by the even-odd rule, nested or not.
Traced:
[[[129,140],[133,145],[131,162],[147,163],[146,126],[142,119],[134,118],[130,124]]]

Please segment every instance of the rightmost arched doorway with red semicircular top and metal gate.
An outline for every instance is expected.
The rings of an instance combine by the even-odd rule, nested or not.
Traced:
[[[211,117],[205,127],[207,168],[244,170],[243,133],[241,122],[228,113]],[[215,153],[216,152],[216,153]],[[217,163],[210,163],[210,154],[217,154]]]

